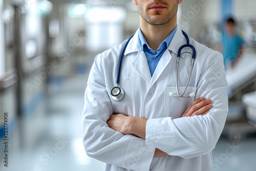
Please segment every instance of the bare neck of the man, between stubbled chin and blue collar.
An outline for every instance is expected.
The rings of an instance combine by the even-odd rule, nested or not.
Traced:
[[[140,29],[145,37],[147,44],[157,52],[158,47],[161,45],[163,40],[172,33],[177,24],[177,15],[170,19],[164,25],[151,25],[148,24],[141,16],[140,16]]]

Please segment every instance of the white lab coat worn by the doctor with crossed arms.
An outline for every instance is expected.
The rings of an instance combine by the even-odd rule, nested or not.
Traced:
[[[122,62],[120,87],[125,96],[121,101],[111,98],[111,89],[115,86],[125,42],[95,58],[85,93],[82,136],[87,155],[105,162],[104,170],[213,169],[211,151],[221,135],[228,112],[223,56],[194,39],[189,40],[197,55],[185,95],[195,92],[194,98],[169,96],[170,91],[176,94],[177,51],[186,43],[179,27],[152,77],[138,31],[135,33]],[[191,62],[190,54],[182,57],[178,76],[180,91],[184,89]],[[188,105],[201,96],[212,99],[213,108],[209,113],[181,118]],[[145,140],[110,129],[106,121],[110,115],[118,113],[147,118]],[[168,155],[153,158],[155,148]]]

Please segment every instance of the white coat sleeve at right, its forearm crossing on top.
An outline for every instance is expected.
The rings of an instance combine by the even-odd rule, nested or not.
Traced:
[[[154,144],[168,155],[185,159],[212,151],[227,117],[227,87],[223,56],[219,52],[212,52],[203,64],[195,97],[211,99],[212,109],[204,116],[148,119],[146,143]]]

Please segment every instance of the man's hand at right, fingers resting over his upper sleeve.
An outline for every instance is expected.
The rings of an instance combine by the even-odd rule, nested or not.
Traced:
[[[189,104],[186,112],[181,117],[206,115],[211,108],[211,99],[206,100],[205,97],[200,97]]]

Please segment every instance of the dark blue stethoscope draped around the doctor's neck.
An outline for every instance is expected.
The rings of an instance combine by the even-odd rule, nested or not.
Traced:
[[[177,54],[177,65],[176,65],[175,82],[176,82],[176,90],[177,90],[177,94],[178,95],[175,95],[173,92],[169,92],[169,96],[182,97],[182,98],[195,97],[195,93],[194,92],[190,93],[189,96],[184,96],[184,94],[186,92],[186,89],[187,89],[187,86],[188,86],[188,82],[189,82],[190,77],[191,77],[191,72],[193,70],[193,66],[194,66],[194,62],[195,62],[195,58],[196,58],[196,49],[194,48],[194,46],[189,44],[189,38],[188,38],[187,34],[183,30],[182,30],[182,33],[185,36],[187,43],[185,45],[182,45],[179,48],[178,54]],[[125,49],[126,49],[127,45],[129,44],[130,40],[132,39],[132,37],[130,37],[127,40],[126,44],[124,45],[124,47],[122,49],[122,52],[121,52],[121,55],[120,55],[120,58],[119,58],[117,77],[116,77],[116,87],[114,87],[111,90],[111,96],[112,96],[113,100],[115,100],[115,101],[120,101],[124,97],[124,90],[119,87],[119,80],[120,80],[120,73],[121,73],[121,66],[122,66],[122,60],[123,60],[124,52],[125,52]],[[186,83],[186,86],[185,86],[185,89],[184,89],[183,93],[180,94],[179,88],[178,88],[178,70],[179,70],[179,62],[180,62],[181,50],[183,48],[185,48],[185,47],[191,48],[192,51],[193,51],[193,54],[192,54],[192,61],[191,61],[191,65],[190,65],[190,71],[189,71],[187,83]]]

